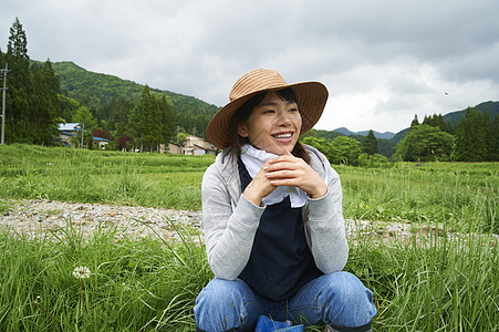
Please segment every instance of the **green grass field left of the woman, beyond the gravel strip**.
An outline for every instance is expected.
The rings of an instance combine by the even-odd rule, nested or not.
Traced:
[[[200,208],[210,156],[0,146],[0,197]]]

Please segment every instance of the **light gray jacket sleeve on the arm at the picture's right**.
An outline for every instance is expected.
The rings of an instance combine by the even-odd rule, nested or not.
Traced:
[[[339,174],[325,160],[328,194],[309,198],[308,235],[318,268],[324,273],[341,271],[349,259]]]

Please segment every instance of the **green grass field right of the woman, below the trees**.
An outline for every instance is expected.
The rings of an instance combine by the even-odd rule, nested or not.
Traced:
[[[458,231],[499,232],[499,163],[337,170],[347,218],[445,222]]]

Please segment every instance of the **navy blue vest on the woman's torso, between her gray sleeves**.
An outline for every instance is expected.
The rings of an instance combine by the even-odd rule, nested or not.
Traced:
[[[252,178],[241,158],[238,168],[245,191]],[[267,206],[239,278],[268,300],[283,301],[322,274],[306,245],[302,209],[292,208],[289,196]]]

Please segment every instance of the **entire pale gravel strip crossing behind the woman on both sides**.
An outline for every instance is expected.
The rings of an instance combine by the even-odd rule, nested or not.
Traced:
[[[178,238],[175,226],[188,226],[190,229],[201,228],[200,211],[174,210],[166,208],[148,208],[141,206],[116,206],[105,204],[66,203],[55,200],[4,200],[0,207],[7,206],[0,212],[0,230],[23,234],[28,238],[40,237],[50,231],[66,229],[71,222],[73,228],[84,236],[92,235],[101,226],[102,229],[116,229],[117,236],[128,238],[155,237],[163,239]],[[139,220],[139,221],[137,221]],[[169,222],[169,221],[171,222]],[[173,224],[173,225],[171,225]],[[370,220],[345,220],[346,235],[355,240],[360,236],[371,236],[377,240],[410,239],[437,235],[451,239],[462,235],[448,231],[444,235],[436,227],[414,227],[408,222],[377,222]],[[468,235],[466,235],[468,236]],[[201,231],[193,232],[195,241],[202,241]],[[496,246],[495,236],[492,246]]]

